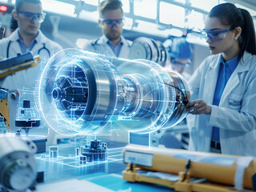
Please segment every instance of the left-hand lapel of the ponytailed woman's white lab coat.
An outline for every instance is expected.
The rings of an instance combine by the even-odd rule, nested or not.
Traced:
[[[220,58],[221,56],[217,57],[216,59],[211,62],[209,66],[209,70],[205,74],[205,102],[209,105],[213,104],[213,96],[214,96],[214,91],[217,83],[217,76],[218,76],[218,71],[220,69]]]

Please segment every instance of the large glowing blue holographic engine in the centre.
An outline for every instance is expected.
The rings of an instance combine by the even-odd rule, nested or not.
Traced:
[[[185,118],[189,95],[185,79],[155,62],[75,49],[55,54],[39,82],[43,117],[64,135],[168,128]]]

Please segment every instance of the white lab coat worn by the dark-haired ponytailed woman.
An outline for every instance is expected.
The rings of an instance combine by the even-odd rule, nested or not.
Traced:
[[[190,78],[192,98],[213,103],[221,54],[201,63]],[[210,150],[213,126],[220,128],[222,154],[256,156],[256,56],[243,54],[211,114],[188,116],[189,150]]]

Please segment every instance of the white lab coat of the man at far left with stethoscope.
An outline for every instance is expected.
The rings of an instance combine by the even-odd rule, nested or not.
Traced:
[[[12,58],[16,56],[18,53],[22,53],[20,50],[20,47],[17,42],[18,39],[18,29],[15,30],[10,37],[3,38],[0,40],[0,58],[6,58],[7,57],[7,46],[8,43],[10,43],[9,47],[9,58]],[[9,92],[9,108],[10,108],[10,128],[11,131],[15,131],[17,127],[15,127],[15,118],[17,113],[17,103],[18,99],[14,100],[10,98],[10,94],[14,92],[15,90],[23,90],[26,88],[26,90],[37,90],[35,89],[36,85],[39,84],[40,76],[43,72],[43,68],[49,58],[49,54],[47,53],[47,50],[50,51],[50,57],[53,56],[55,53],[57,53],[59,50],[62,50],[63,48],[59,46],[58,43],[51,41],[49,38],[46,38],[43,33],[39,30],[38,36],[35,38],[37,40],[37,43],[35,43],[35,46],[31,50],[32,54],[38,55],[41,58],[41,62],[38,66],[31,67],[27,70],[18,71],[17,73],[7,76],[6,78],[3,78],[0,80],[0,86],[7,88],[10,90]],[[43,43],[45,43],[45,46],[47,50],[43,49],[39,52],[39,50],[43,47]]]

